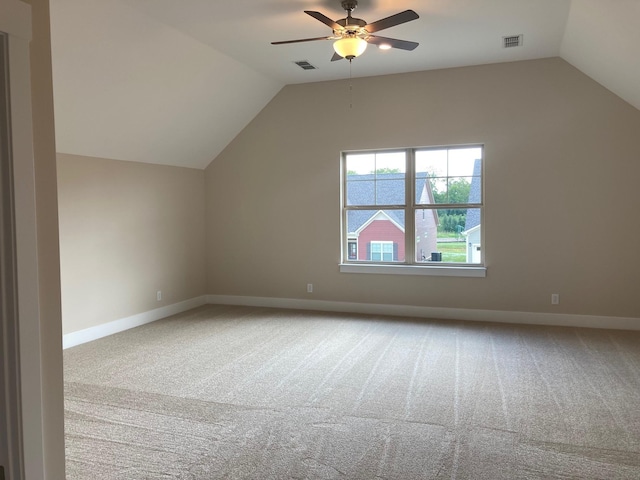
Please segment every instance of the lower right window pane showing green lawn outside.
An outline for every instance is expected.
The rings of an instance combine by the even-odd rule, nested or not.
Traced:
[[[416,210],[416,262],[481,263],[480,209]]]

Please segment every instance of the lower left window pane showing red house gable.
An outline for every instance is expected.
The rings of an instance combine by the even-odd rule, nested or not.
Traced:
[[[358,260],[363,262],[404,262],[404,210],[349,210],[347,230],[350,242],[356,242]]]

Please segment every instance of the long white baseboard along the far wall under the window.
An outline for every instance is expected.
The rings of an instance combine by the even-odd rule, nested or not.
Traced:
[[[640,330],[640,318],[633,317],[605,317],[566,313],[416,307],[410,305],[382,305],[370,303],[331,302],[325,300],[301,300],[294,298],[243,297],[235,295],[207,295],[207,303],[245,305],[252,307],[290,308],[298,310],[320,310],[326,312],[395,315],[401,317],[437,318],[442,320],[471,320],[477,322],[516,323],[525,325]]]

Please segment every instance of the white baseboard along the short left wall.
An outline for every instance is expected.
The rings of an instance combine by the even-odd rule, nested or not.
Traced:
[[[131,328],[139,327],[140,325],[155,322],[156,320],[160,320],[177,313],[186,312],[192,308],[200,307],[206,303],[207,297],[202,295],[183,302],[156,308],[155,310],[149,310],[148,312],[142,312],[130,317],[96,325],[95,327],[89,327],[84,330],[78,330],[77,332],[67,333],[62,338],[62,348],[67,349],[75,347],[76,345],[91,342],[99,338],[113,335],[114,333],[123,332]]]

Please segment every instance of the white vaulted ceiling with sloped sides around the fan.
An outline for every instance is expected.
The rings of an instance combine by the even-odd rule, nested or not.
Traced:
[[[270,44],[330,35],[303,10],[343,18],[338,0],[51,0],[57,149],[205,168],[286,84],[553,56],[640,108],[638,0],[359,3],[367,22],[415,10],[380,34],[420,46],[369,46],[350,69],[329,41]]]

